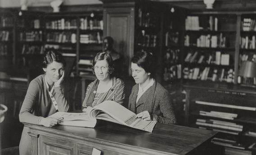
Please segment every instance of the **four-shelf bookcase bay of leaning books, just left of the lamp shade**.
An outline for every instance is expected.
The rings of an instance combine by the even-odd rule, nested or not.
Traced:
[[[191,13],[185,19],[184,83],[234,83],[236,44],[234,14]]]

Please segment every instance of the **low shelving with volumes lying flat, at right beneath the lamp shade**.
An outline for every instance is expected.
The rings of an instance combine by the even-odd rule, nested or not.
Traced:
[[[186,125],[219,131],[212,142],[223,153],[255,154],[255,97],[253,88],[231,83],[194,82],[186,91]]]

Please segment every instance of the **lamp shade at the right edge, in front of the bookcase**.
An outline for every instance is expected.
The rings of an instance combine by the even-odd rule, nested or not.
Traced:
[[[251,61],[242,61],[238,75],[246,78],[256,77],[256,63]]]

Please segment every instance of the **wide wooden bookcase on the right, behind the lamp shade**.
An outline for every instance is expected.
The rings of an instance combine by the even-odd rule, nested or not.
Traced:
[[[238,71],[254,61],[254,11],[200,10],[187,14],[184,35],[184,83],[243,83]],[[251,79],[252,85],[256,85]]]

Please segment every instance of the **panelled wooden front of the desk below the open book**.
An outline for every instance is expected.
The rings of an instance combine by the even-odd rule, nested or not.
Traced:
[[[156,155],[152,151],[142,151],[134,148],[124,149],[115,144],[106,144],[100,141],[83,141],[71,140],[59,136],[39,135],[38,138],[38,155],[91,155],[93,148],[102,152],[101,155]],[[161,153],[157,153],[161,155]]]

